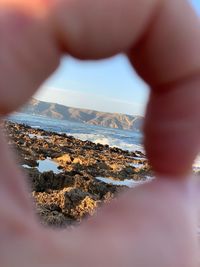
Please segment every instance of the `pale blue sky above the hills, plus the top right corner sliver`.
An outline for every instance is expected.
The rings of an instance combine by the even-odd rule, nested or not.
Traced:
[[[200,14],[200,0],[191,0]],[[58,70],[35,97],[66,106],[144,115],[149,88],[128,59],[118,55],[100,61],[64,57]]]

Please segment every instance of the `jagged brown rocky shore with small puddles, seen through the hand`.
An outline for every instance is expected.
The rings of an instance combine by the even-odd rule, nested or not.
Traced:
[[[4,126],[44,225],[79,224],[122,190],[152,176],[140,151],[123,151],[8,121]]]

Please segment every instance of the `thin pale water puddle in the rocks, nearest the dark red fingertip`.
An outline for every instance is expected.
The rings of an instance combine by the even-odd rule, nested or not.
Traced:
[[[104,182],[106,184],[111,184],[111,185],[119,185],[119,186],[127,186],[130,188],[136,187],[138,185],[144,184],[146,182],[149,182],[150,180],[152,180],[152,177],[146,177],[147,180],[145,181],[135,181],[135,180],[123,180],[123,181],[117,181],[117,180],[113,180],[111,178],[106,178],[106,177],[96,177],[96,179],[98,181]]]

